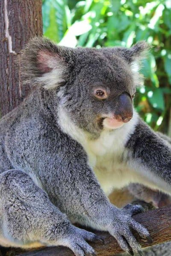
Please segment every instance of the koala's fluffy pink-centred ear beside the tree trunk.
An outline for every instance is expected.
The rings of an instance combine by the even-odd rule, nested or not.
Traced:
[[[34,38],[19,56],[22,80],[53,89],[68,80],[70,59],[71,48],[60,47],[47,38]]]

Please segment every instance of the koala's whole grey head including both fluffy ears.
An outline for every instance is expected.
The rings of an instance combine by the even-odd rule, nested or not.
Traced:
[[[142,82],[139,63],[148,48],[146,42],[130,49],[68,48],[35,38],[22,52],[21,72],[26,81],[53,90],[78,127],[97,134],[133,117],[133,97]]]

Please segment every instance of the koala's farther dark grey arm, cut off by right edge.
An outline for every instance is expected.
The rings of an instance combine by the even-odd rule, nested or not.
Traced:
[[[128,166],[147,177],[159,190],[171,194],[171,147],[168,142],[139,118],[126,148]]]

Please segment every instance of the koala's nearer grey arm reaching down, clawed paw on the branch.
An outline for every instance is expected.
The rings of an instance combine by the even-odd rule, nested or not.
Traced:
[[[60,139],[62,140],[62,136]],[[53,197],[52,201],[59,205],[72,222],[108,231],[123,250],[130,252],[131,247],[138,252],[140,246],[131,229],[145,239],[149,236],[147,230],[132,218],[133,214],[143,211],[142,207],[128,205],[118,209],[112,205],[88,166],[87,156],[81,145],[70,139],[63,139],[60,143],[69,146],[62,148],[62,153],[60,157],[56,156],[56,160],[53,155],[53,158],[49,157],[49,161],[46,159],[46,163],[41,166],[41,172],[46,176],[43,184],[46,184],[45,189]],[[53,150],[57,150],[53,146]]]

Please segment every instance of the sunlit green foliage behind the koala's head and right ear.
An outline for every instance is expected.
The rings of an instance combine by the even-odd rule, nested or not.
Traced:
[[[125,46],[146,40],[145,86],[137,111],[155,130],[168,132],[171,108],[170,0],[44,0],[44,35],[66,46]]]

